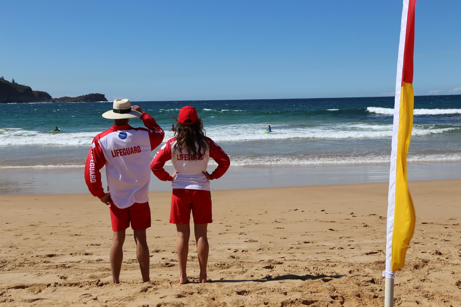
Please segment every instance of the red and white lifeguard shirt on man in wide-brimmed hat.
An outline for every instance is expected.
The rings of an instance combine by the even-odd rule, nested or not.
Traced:
[[[112,201],[121,209],[149,200],[150,152],[165,137],[152,116],[144,113],[140,119],[147,129],[113,125],[96,135],[85,165],[86,184],[96,197],[105,194],[100,169],[106,165]]]

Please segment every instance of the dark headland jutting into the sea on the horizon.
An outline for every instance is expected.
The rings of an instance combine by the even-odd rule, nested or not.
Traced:
[[[14,79],[10,82],[0,77],[0,103],[30,103],[30,102],[93,102],[107,101],[104,94],[91,93],[78,97],[52,98],[42,91],[33,91],[32,88],[18,84]]]

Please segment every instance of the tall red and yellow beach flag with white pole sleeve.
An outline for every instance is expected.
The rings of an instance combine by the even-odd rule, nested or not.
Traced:
[[[413,128],[414,8],[416,0],[403,0],[397,61],[394,128],[390,155],[387,209],[386,278],[405,264],[408,244],[414,232],[415,215],[407,185],[407,154]]]

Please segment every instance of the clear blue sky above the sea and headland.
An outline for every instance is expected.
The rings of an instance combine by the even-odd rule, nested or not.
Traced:
[[[415,94],[461,94],[460,11],[418,1]],[[0,75],[109,100],[393,95],[401,14],[400,0],[2,1]]]

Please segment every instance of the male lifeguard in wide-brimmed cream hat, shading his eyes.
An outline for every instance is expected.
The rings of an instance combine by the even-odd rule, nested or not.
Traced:
[[[146,229],[150,227],[148,188],[150,152],[163,141],[164,131],[152,116],[128,99],[115,99],[112,110],[102,117],[114,125],[93,139],[85,165],[88,189],[102,203],[109,205],[112,222],[110,253],[112,280],[118,284],[123,260],[125,229],[131,224],[142,280],[149,281],[149,249]],[[147,128],[133,128],[130,118],[139,117]],[[100,169],[106,165],[109,191],[104,192]]]

